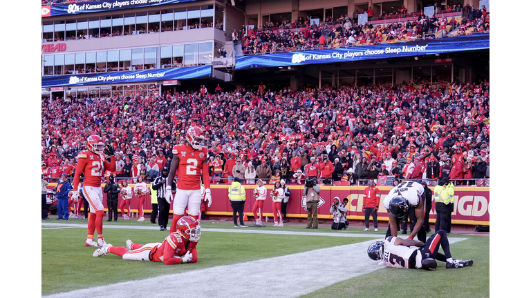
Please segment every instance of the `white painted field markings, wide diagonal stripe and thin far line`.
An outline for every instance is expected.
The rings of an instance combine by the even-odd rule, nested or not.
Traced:
[[[118,228],[118,226],[113,228]],[[230,229],[204,230],[236,232],[236,230]],[[238,230],[237,232],[268,232],[283,235],[311,236],[332,234],[263,230]],[[382,237],[382,235],[369,234],[348,237],[372,236]],[[449,242],[454,243],[464,239],[450,238]],[[73,290],[44,297],[299,297],[336,284],[339,281],[383,268],[378,266],[378,262],[369,259],[366,255],[367,247],[372,241],[322,248],[239,264],[216,266],[174,275],[162,275],[138,281],[126,281],[109,286]],[[104,257],[102,256],[102,258]],[[201,259],[201,256],[199,258]]]

